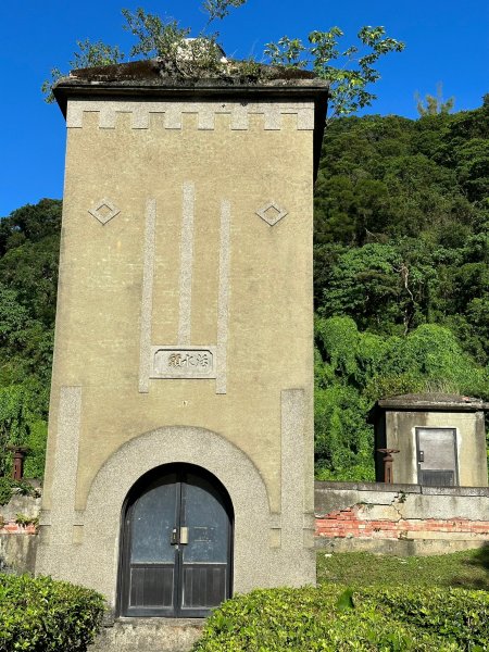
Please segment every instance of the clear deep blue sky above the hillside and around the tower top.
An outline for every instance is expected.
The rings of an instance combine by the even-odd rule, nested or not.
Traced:
[[[198,0],[2,0],[0,8],[0,216],[42,197],[61,198],[65,127],[57,105],[43,102],[40,86],[53,66],[66,70],[77,39],[121,43],[121,8],[142,5],[196,30],[204,16]],[[306,37],[338,25],[344,45],[363,25],[384,25],[406,49],[380,65],[378,100],[368,113],[416,117],[414,93],[435,93],[443,84],[455,110],[475,109],[489,92],[489,3],[486,0],[248,0],[221,25],[221,42],[235,58],[258,58],[263,45],[284,35]]]

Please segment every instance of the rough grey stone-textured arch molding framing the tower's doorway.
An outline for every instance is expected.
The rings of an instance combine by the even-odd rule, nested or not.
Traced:
[[[204,428],[162,427],[124,443],[95,477],[83,515],[85,554],[100,556],[93,564],[80,563],[79,581],[103,592],[115,604],[121,510],[134,484],[158,466],[180,462],[212,473],[226,488],[235,512],[234,589],[247,591],[268,584],[268,540],[277,527],[269,512],[265,484],[251,460],[233,443]],[[82,516],[82,514],[80,514]],[[253,572],[250,573],[250,569]],[[91,574],[88,577],[86,574]]]

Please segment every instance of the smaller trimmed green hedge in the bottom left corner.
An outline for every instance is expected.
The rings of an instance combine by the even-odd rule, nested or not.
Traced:
[[[85,652],[105,602],[51,577],[0,574],[0,652]]]

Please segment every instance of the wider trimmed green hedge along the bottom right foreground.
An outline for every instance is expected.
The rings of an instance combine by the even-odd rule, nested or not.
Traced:
[[[256,590],[209,618],[193,652],[489,650],[489,593],[339,586]]]

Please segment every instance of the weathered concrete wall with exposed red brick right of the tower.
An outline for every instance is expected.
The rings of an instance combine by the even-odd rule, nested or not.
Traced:
[[[444,553],[489,540],[489,489],[316,482],[316,546]]]

